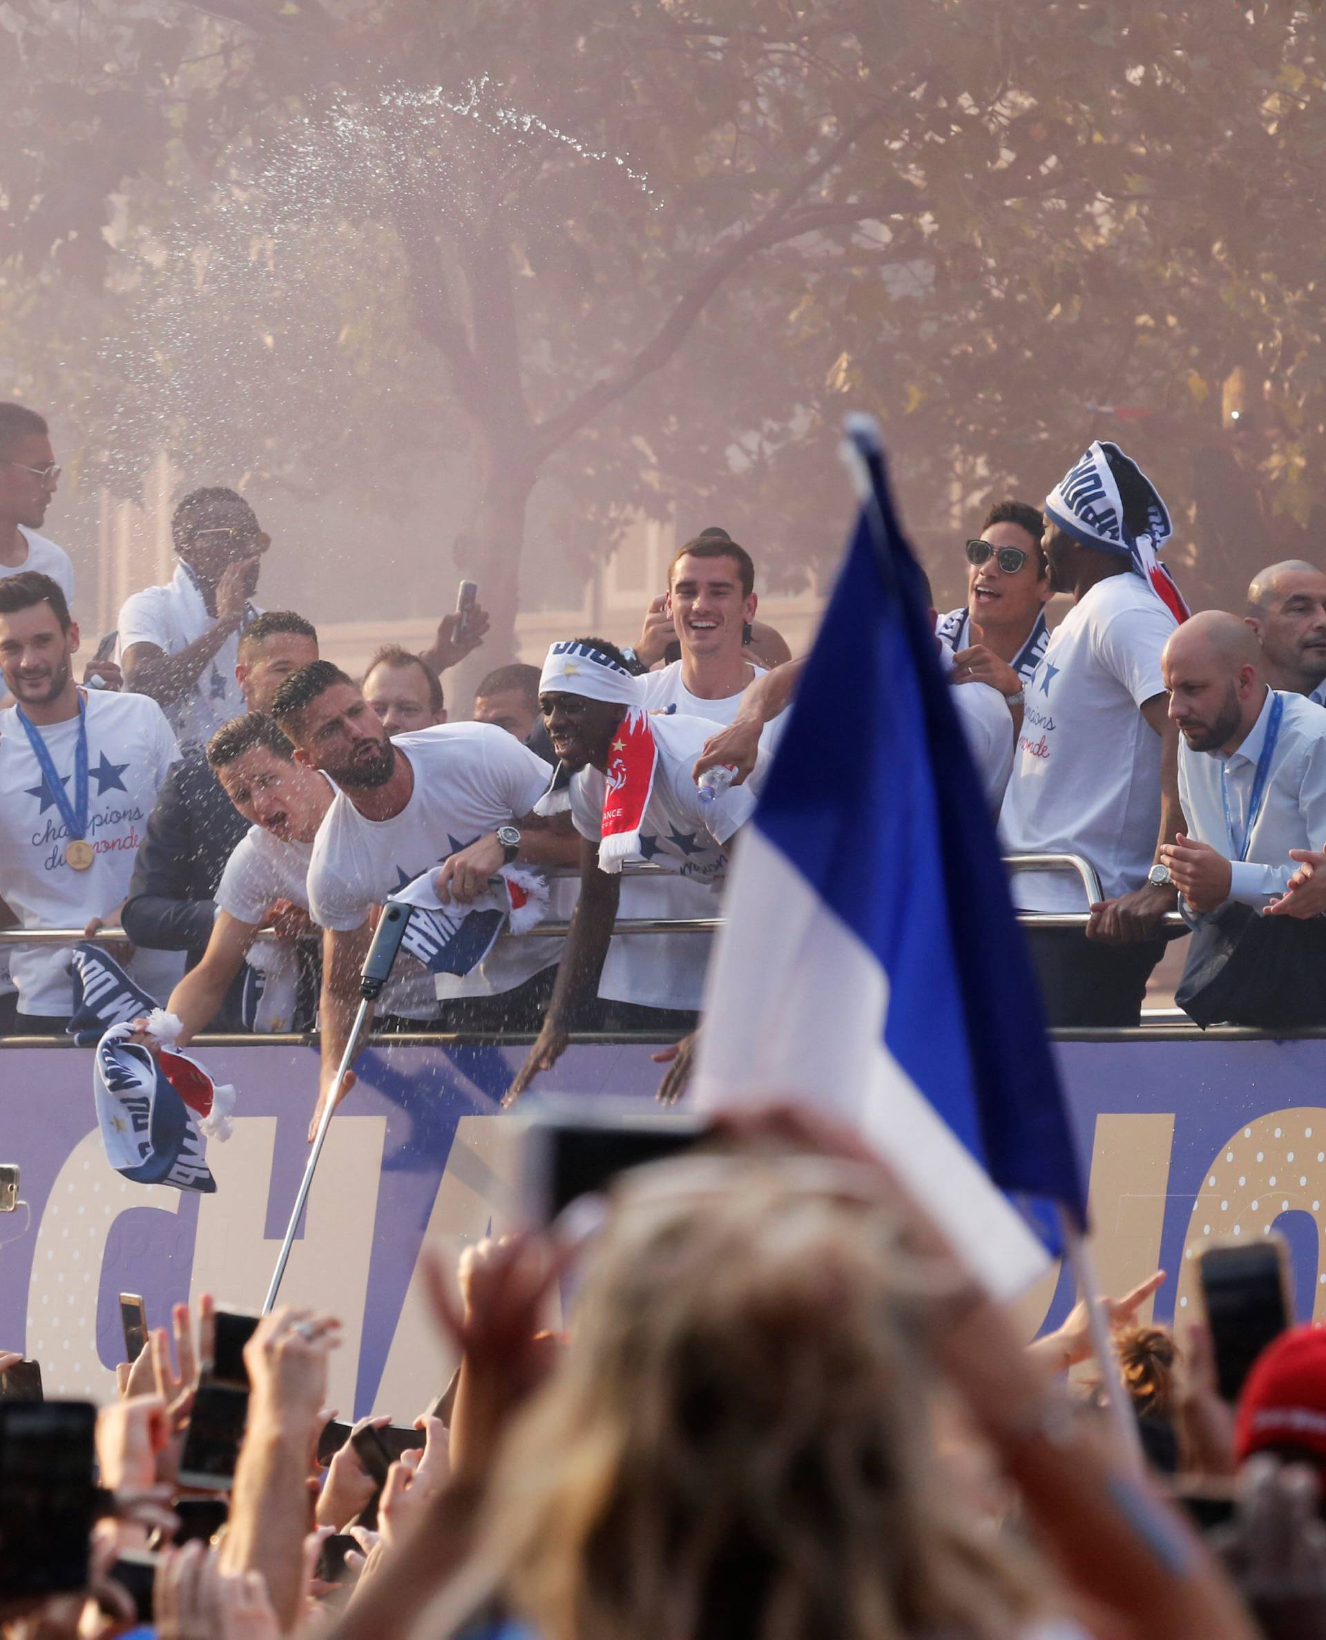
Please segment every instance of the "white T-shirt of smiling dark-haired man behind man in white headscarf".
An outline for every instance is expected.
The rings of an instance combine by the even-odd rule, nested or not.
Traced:
[[[765,667],[757,666],[755,676],[763,676],[763,671]],[[681,661],[647,672],[642,682],[645,705],[652,712],[681,712],[707,718],[724,728],[737,717],[745,694],[738,690],[735,695],[724,695],[722,700],[693,695],[681,681]],[[781,718],[773,720],[773,723],[781,722]],[[773,723],[766,723],[760,735],[765,749],[776,733]],[[683,876],[624,877],[617,915],[624,920],[717,917],[719,897],[711,884]],[[647,1009],[697,1012],[712,943],[711,933],[615,935],[607,948],[599,995],[609,1002],[635,1002]]]

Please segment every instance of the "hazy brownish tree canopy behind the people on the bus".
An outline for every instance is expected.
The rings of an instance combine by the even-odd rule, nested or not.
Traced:
[[[1315,10],[3,0],[0,52],[0,358],[112,484],[443,474],[499,631],[532,497],[586,564],[673,508],[830,563],[847,408],[940,584],[1093,436],[1195,602],[1315,556]]]

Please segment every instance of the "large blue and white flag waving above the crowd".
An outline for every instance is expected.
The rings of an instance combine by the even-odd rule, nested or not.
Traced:
[[[1040,999],[878,433],[847,561],[742,828],[693,1084],[853,1122],[1001,1297],[1085,1194]],[[1021,1209],[1029,1209],[1026,1214]]]

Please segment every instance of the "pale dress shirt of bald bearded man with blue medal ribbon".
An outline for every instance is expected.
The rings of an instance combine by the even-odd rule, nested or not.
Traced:
[[[1267,738],[1272,700],[1283,700],[1280,735],[1267,774],[1265,795],[1252,823],[1246,851],[1252,784],[1257,759]],[[1229,822],[1221,797],[1221,766],[1229,794]],[[1257,722],[1244,743],[1228,758],[1223,751],[1193,751],[1178,743],[1178,795],[1188,820],[1188,835],[1208,843],[1231,863],[1229,899],[1262,907],[1283,894],[1298,869],[1288,858],[1292,848],[1326,845],[1326,708],[1303,695],[1267,690]]]

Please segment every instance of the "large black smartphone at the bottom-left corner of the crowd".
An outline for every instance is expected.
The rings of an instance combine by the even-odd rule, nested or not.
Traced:
[[[0,1596],[87,1588],[95,1430],[87,1401],[0,1402]]]

